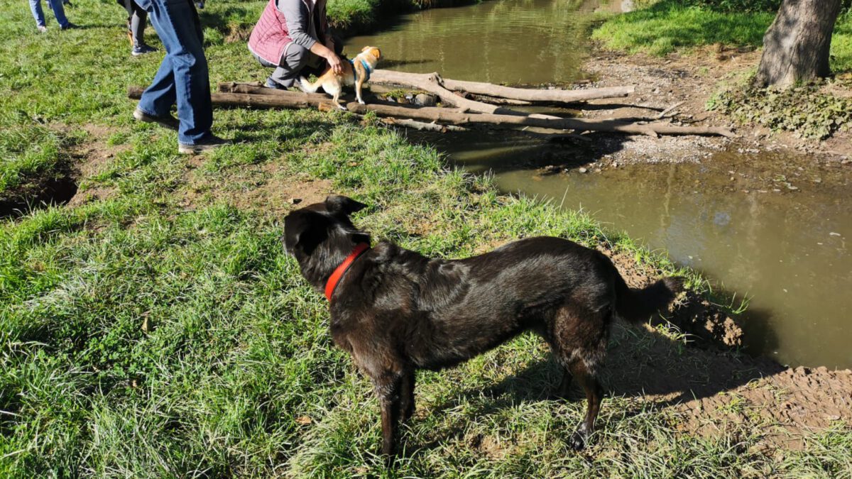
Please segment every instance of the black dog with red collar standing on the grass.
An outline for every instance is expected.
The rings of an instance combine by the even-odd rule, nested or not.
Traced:
[[[345,196],[293,211],[285,246],[302,275],[331,302],[331,337],[370,377],[382,406],[384,454],[394,453],[397,423],[414,412],[414,372],[479,355],[526,330],[541,334],[588,410],[571,437],[584,447],[601,407],[596,372],[613,317],[640,322],[681,288],[666,278],[627,287],[602,253],[560,238],[529,238],[477,257],[432,259],[370,235],[349,215],[365,208]]]

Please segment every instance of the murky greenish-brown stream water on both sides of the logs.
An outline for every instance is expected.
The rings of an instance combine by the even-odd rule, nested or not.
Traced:
[[[348,40],[382,49],[383,67],[509,84],[584,78],[590,13],[631,2],[500,0],[403,15]],[[642,164],[542,176],[571,145],[504,133],[425,137],[456,164],[490,171],[505,192],[583,209],[676,263],[749,298],[752,351],[790,365],[852,367],[852,184],[838,168],[789,153],[711,153],[700,163]]]

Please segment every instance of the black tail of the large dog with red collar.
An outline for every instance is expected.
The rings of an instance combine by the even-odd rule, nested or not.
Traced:
[[[631,323],[642,323],[667,308],[683,289],[683,278],[671,277],[655,281],[642,289],[630,288],[615,274],[615,310]]]

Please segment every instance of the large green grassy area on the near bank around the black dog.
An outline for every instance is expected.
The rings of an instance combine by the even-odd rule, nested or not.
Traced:
[[[847,426],[779,462],[759,452],[760,430],[693,437],[675,413],[628,397],[607,399],[595,446],[572,453],[584,402],[538,399],[556,373],[532,336],[418,376],[423,413],[406,459],[386,469],[371,389],[331,346],[323,297],[279,243],[285,211],[241,202],[268,186],[268,168],[331,182],[371,205],[360,225],[424,254],[554,234],[676,267],[588,216],[500,196],[369,118],[217,110],[216,132],[241,143],[180,156],[174,133],[130,120],[124,95],[158,55],[130,57],[112,3],[74,5],[83,29],[37,35],[26,3],[0,0],[3,171],[29,158],[47,158],[35,163],[48,174],[73,166],[71,144],[107,153],[80,180],[94,199],[0,221],[0,476],[848,474]],[[262,5],[208,3],[213,84],[266,74],[227,41]],[[294,194],[269,193],[270,204]]]

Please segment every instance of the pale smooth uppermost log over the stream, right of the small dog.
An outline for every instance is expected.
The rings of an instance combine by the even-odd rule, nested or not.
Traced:
[[[372,72],[370,81],[377,84],[414,85],[431,81],[433,76],[440,78],[438,73],[407,73],[390,70]],[[452,91],[466,91],[474,95],[495,96],[509,100],[544,101],[550,103],[574,103],[577,101],[597,100],[601,98],[617,98],[630,95],[636,91],[634,86],[621,86],[598,89],[526,89],[508,86],[466,82],[440,78],[440,84]]]

